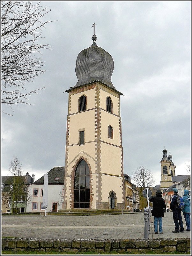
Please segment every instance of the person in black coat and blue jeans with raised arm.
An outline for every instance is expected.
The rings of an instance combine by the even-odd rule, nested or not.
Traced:
[[[166,208],[165,200],[162,198],[162,192],[160,189],[157,190],[155,196],[151,196],[149,201],[153,203],[152,216],[154,217],[154,231],[158,234],[158,224],[159,233],[163,234],[162,228],[162,217],[164,217],[164,208]]]

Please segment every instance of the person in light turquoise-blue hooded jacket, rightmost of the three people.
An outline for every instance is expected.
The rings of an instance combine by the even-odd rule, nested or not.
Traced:
[[[183,203],[185,207],[182,212],[187,226],[185,231],[191,231],[191,197],[189,196],[188,189],[184,189]]]

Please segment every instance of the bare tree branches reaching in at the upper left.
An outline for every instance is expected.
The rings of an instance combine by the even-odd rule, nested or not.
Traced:
[[[26,81],[33,81],[35,77],[45,72],[42,70],[44,62],[38,58],[41,49],[51,49],[48,44],[38,44],[42,28],[53,21],[42,21],[42,17],[50,12],[40,3],[31,1],[1,2],[2,9],[2,103],[12,105],[26,103],[27,96],[37,93],[36,89],[23,92]],[[14,89],[9,90],[9,88]],[[29,103],[26,103],[29,104]],[[30,104],[32,105],[32,104]],[[13,109],[12,109],[13,110]]]

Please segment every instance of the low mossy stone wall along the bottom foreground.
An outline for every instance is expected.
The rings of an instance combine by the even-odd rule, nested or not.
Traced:
[[[92,254],[114,252],[123,254],[147,254],[154,252],[190,252],[190,238],[175,239],[125,239],[125,240],[35,240],[2,239],[2,250],[90,252]]]

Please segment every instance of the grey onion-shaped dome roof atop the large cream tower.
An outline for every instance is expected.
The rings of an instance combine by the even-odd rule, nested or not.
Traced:
[[[93,44],[78,54],[75,72],[78,82],[74,87],[100,81],[110,88],[115,89],[111,82],[114,61],[111,55],[97,46],[97,37],[93,35]]]

